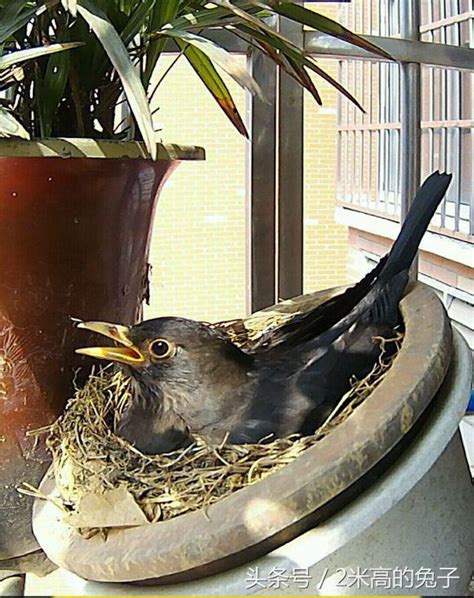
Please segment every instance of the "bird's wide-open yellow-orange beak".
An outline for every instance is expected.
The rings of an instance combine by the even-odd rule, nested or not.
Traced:
[[[130,340],[130,329],[121,324],[109,324],[108,322],[79,322],[77,328],[98,332],[123,345],[122,347],[87,347],[76,349],[80,355],[88,355],[97,359],[118,361],[127,365],[137,365],[145,361],[145,356]]]

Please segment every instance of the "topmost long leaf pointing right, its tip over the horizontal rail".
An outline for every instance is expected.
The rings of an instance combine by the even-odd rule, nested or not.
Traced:
[[[385,52],[385,50],[382,50],[382,48],[379,48],[378,46],[375,46],[374,44],[365,40],[363,37],[352,33],[352,31],[349,31],[349,29],[346,29],[329,17],[325,17],[317,12],[308,10],[300,4],[282,2],[281,0],[267,0],[264,2],[264,5],[268,5],[268,7],[274,10],[276,13],[283,17],[287,17],[292,21],[296,21],[302,25],[307,25],[308,27],[316,29],[317,31],[321,31],[322,33],[327,33],[328,35],[342,39],[343,41],[354,46],[359,46],[360,48],[372,52],[373,54],[393,60],[392,56]]]

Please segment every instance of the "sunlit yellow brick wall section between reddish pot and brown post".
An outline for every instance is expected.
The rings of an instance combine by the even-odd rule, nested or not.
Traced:
[[[156,77],[171,60],[163,57]],[[227,82],[245,115],[245,93]],[[155,104],[163,141],[204,146],[207,159],[183,162],[161,193],[145,317],[243,316],[246,142],[182,58],[160,85]]]

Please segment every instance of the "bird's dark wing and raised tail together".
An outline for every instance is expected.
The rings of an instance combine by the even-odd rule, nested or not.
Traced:
[[[358,284],[289,322],[263,334],[253,355],[260,372],[251,417],[240,431],[255,438],[269,424],[278,434],[301,430],[309,398],[308,425],[321,423],[348,389],[352,374],[364,376],[378,352],[375,335],[399,321],[398,304],[419,242],[449,185],[451,177],[434,173],[423,184],[389,254]],[[265,397],[260,401],[259,397]],[[286,421],[293,416],[292,421]],[[314,428],[313,428],[314,430]],[[288,432],[287,432],[288,433]]]

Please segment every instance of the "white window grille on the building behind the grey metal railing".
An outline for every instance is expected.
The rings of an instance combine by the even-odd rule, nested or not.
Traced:
[[[400,35],[400,3],[354,0],[341,21],[371,34]],[[472,47],[471,0],[422,0],[422,41]],[[362,99],[367,114],[339,102],[338,200],[398,219],[401,213],[401,73],[397,64],[342,60],[344,85]],[[474,234],[472,72],[422,67],[422,177],[433,170],[455,175],[433,221],[445,235]]]

